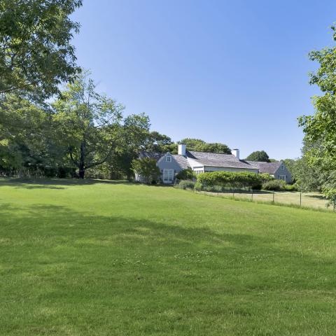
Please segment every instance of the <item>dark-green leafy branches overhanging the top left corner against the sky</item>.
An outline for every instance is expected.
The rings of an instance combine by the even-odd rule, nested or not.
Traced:
[[[78,71],[69,15],[81,0],[0,0],[0,93],[49,97]]]

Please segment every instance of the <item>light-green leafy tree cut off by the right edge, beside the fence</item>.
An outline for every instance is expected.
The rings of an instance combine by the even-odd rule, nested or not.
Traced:
[[[332,27],[336,41],[336,27]],[[336,46],[314,50],[309,53],[319,68],[310,75],[310,83],[318,85],[322,94],[313,98],[315,113],[302,116],[299,124],[303,127],[307,141],[318,143],[311,146],[305,157],[311,167],[318,167],[323,176],[323,193],[335,202],[336,197]]]

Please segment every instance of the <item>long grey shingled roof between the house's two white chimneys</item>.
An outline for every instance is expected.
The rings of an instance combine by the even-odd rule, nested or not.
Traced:
[[[200,162],[200,165],[211,167],[228,167],[228,168],[242,168],[242,169],[258,169],[251,167],[248,163],[241,161],[232,154],[219,153],[203,153],[187,151],[188,158]]]

